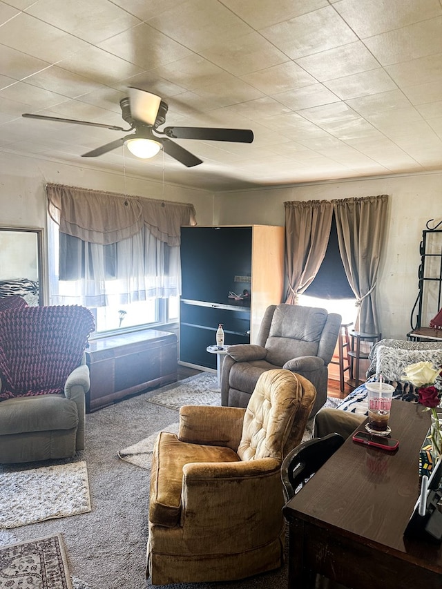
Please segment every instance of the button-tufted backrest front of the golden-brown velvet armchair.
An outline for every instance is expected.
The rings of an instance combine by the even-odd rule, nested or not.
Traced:
[[[263,372],[249,400],[237,454],[242,461],[282,461],[302,397],[302,387],[289,370]]]

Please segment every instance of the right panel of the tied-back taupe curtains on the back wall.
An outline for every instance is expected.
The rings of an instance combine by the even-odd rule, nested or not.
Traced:
[[[385,242],[388,195],[333,200],[340,256],[356,296],[355,330],[378,334],[374,289]]]

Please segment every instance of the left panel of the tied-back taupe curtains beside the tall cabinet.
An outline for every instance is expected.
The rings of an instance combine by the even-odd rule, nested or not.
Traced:
[[[297,297],[313,282],[322,264],[330,227],[333,204],[329,200],[285,202],[285,238],[287,280],[286,302],[296,305]]]

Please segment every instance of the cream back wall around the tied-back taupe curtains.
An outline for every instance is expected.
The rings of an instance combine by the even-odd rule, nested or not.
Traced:
[[[418,294],[419,243],[428,220],[442,221],[442,173],[218,193],[213,222],[285,224],[284,202],[388,194],[387,244],[380,264],[376,305],[385,338],[405,339]],[[432,225],[433,226],[433,225]],[[431,309],[435,315],[438,309]]]

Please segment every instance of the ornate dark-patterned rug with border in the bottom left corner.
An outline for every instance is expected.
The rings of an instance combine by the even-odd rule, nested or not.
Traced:
[[[61,535],[0,548],[0,588],[73,589]]]

